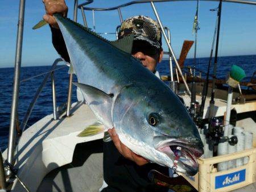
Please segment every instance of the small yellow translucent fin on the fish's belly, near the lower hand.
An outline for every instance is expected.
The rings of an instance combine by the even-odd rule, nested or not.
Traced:
[[[79,135],[77,135],[78,137],[87,137],[87,136],[93,136],[93,135],[97,135],[99,133],[102,133],[106,130],[104,124],[102,124],[101,122],[95,122],[93,124],[91,124],[90,126],[86,127],[84,131],[82,131],[81,133],[79,133]]]

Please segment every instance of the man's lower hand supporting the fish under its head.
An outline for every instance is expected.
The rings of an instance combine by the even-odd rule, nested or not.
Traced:
[[[109,129],[108,132],[114,142],[115,147],[117,148],[119,153],[121,153],[125,158],[134,161],[137,165],[140,166],[148,163],[148,160],[146,160],[142,156],[135,154],[131,151],[131,149],[127,148],[124,144],[121,143],[117,133],[115,132],[115,128]]]

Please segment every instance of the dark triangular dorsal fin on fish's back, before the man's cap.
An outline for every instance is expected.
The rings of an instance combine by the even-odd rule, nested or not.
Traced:
[[[131,54],[131,50],[133,49],[133,39],[134,35],[130,35],[125,36],[122,39],[110,41],[110,43],[118,49],[121,49],[122,51]]]

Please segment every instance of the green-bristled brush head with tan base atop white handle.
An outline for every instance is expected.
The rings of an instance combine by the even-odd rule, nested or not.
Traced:
[[[229,86],[236,88],[243,78],[245,78],[245,71],[240,66],[233,65],[229,73],[229,79],[226,83]]]

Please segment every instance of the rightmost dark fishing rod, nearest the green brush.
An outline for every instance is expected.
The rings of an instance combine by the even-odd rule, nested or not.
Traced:
[[[218,61],[218,41],[220,38],[221,8],[222,8],[222,0],[220,0],[220,3],[218,5],[218,28],[217,28],[217,38],[216,38],[214,66],[213,66],[212,94],[210,97],[210,107],[209,107],[209,116],[208,116],[209,120],[213,117],[214,103],[215,103],[214,93],[215,93],[215,78],[216,78],[217,61]]]

